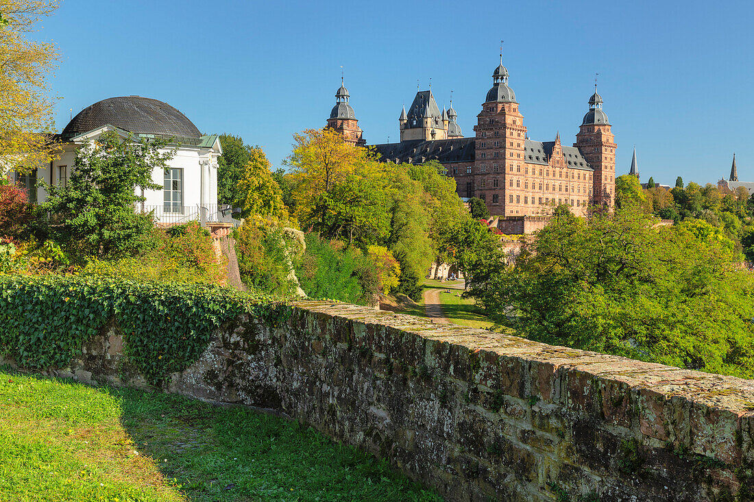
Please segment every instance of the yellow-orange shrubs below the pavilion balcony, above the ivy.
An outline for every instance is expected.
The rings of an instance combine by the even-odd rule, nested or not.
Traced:
[[[219,264],[212,237],[198,222],[153,228],[149,249],[141,256],[116,260],[91,259],[81,275],[109,276],[138,281],[220,284],[227,276]]]

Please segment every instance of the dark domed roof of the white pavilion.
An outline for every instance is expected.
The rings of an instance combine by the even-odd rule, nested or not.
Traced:
[[[70,139],[107,124],[135,134],[201,137],[192,121],[177,109],[141,96],[112,97],[87,106],[68,123],[61,136]]]

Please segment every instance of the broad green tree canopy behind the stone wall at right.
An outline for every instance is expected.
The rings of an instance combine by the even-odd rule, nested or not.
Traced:
[[[751,378],[754,277],[711,225],[654,222],[635,207],[557,219],[470,293],[526,338]]]

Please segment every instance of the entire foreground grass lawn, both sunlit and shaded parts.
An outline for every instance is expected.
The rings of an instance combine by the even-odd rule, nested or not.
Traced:
[[[0,367],[0,500],[441,500],[308,427]]]

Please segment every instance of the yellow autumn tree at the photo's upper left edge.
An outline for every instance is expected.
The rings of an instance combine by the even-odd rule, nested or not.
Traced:
[[[56,156],[50,136],[53,100],[48,74],[58,60],[57,47],[29,41],[35,25],[57,8],[51,0],[0,0],[0,177],[8,170],[25,173]]]

